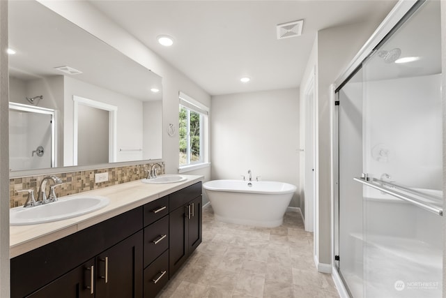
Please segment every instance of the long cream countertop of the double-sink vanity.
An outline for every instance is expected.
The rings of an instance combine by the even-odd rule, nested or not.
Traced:
[[[203,176],[182,175],[185,181],[170,184],[144,184],[140,180],[85,191],[75,195],[102,195],[109,198],[109,204],[89,214],[68,218],[63,221],[36,225],[10,226],[10,258],[32,251],[77,231],[89,228],[109,218],[117,216],[153,200],[169,195],[182,188],[203,181]],[[74,196],[74,195],[73,195]],[[65,198],[68,198],[65,197]],[[63,200],[63,197],[60,198]]]

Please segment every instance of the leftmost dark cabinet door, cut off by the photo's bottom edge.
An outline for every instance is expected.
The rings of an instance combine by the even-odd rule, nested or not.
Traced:
[[[93,268],[92,268],[93,267]],[[52,283],[45,285],[45,287],[33,292],[28,297],[31,298],[48,298],[48,297],[63,297],[63,298],[91,298],[94,295],[91,289],[91,281],[93,277],[94,283],[94,260],[91,259],[83,265],[72,269],[67,274],[57,278]],[[92,275],[93,274],[93,275]],[[26,281],[24,281],[26,282]]]

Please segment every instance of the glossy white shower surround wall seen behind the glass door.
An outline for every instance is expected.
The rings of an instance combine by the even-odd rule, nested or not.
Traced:
[[[365,83],[365,172],[376,179],[389,174],[388,180],[414,188],[442,189],[440,80],[441,75],[425,75]]]

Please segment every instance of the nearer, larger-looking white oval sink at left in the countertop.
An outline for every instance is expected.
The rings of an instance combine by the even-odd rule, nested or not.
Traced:
[[[98,195],[76,195],[35,207],[15,207],[9,211],[10,225],[33,225],[61,221],[88,214],[108,204],[108,198]]]

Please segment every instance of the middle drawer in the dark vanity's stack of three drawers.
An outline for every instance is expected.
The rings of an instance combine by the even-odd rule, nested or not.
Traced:
[[[144,228],[144,267],[169,248],[169,216]]]

